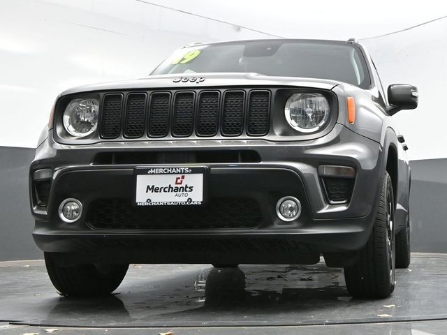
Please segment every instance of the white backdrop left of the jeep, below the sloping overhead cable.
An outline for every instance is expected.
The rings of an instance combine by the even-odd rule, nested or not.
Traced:
[[[0,146],[35,147],[64,89],[143,77],[195,41],[266,36],[140,1],[0,0]]]

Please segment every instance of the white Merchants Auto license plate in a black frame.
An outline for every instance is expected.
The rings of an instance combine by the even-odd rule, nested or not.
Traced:
[[[135,169],[137,206],[189,206],[204,201],[205,167]]]

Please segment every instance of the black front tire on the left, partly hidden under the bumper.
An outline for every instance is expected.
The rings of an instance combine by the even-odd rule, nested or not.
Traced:
[[[126,276],[129,264],[59,265],[52,253],[45,253],[48,276],[61,295],[98,297],[116,290]]]

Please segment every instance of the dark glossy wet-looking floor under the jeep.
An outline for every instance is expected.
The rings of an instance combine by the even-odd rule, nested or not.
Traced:
[[[42,261],[0,262],[0,335],[447,334],[447,255],[413,254],[396,281],[392,297],[366,301],[323,263],[131,265],[115,295],[70,299]]]

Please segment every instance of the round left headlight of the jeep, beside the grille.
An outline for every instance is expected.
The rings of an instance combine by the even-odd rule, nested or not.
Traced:
[[[74,99],[65,109],[64,127],[70,135],[85,137],[98,126],[99,101],[97,99]]]

